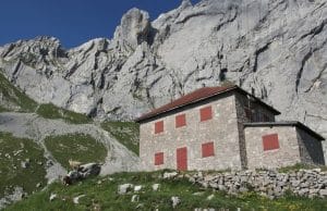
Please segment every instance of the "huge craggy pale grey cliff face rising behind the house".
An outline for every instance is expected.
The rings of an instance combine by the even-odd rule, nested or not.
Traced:
[[[130,10],[110,40],[5,45],[0,67],[38,102],[111,120],[229,80],[327,137],[326,23],[326,0],[184,0],[153,22]]]

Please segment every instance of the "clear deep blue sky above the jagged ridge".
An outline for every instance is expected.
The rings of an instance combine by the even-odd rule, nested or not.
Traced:
[[[155,20],[180,3],[181,0],[0,0],[0,46],[45,35],[71,48],[97,37],[111,38],[121,16],[131,8],[145,10]]]

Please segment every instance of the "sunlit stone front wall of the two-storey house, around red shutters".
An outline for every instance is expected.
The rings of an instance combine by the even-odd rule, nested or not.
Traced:
[[[199,109],[213,108],[213,120],[199,121]],[[175,128],[175,115],[185,113],[186,126]],[[164,121],[161,134],[154,134],[155,122]],[[214,141],[215,156],[202,158],[202,144]],[[141,124],[140,157],[146,170],[177,169],[177,148],[187,148],[189,170],[241,169],[239,132],[233,95],[220,96],[201,104],[168,113]],[[164,152],[164,164],[154,165],[156,152]]]

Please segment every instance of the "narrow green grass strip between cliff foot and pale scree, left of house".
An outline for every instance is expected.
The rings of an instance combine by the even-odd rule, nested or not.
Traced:
[[[60,109],[55,104],[40,104],[36,113],[45,119],[62,119],[72,124],[87,124],[92,122],[92,119],[73,111]]]

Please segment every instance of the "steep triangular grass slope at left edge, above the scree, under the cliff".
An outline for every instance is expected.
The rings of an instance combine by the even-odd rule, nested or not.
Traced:
[[[1,73],[0,70],[0,92],[4,97],[4,101],[11,102],[12,104],[19,107],[19,112],[33,112],[37,107],[37,103],[23,94],[22,90],[14,87]],[[5,108],[2,105],[0,112],[10,111],[11,108]]]

